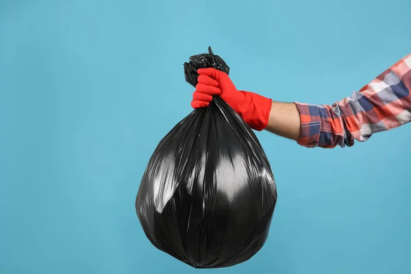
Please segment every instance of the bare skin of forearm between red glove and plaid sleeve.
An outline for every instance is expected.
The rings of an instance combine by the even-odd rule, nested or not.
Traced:
[[[295,103],[273,101],[266,130],[291,140],[299,140],[301,122]]]

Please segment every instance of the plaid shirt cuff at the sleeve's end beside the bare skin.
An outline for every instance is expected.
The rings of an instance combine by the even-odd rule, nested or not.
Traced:
[[[294,102],[300,116],[301,130],[297,143],[303,147],[318,147],[320,141],[321,115],[319,107]]]

